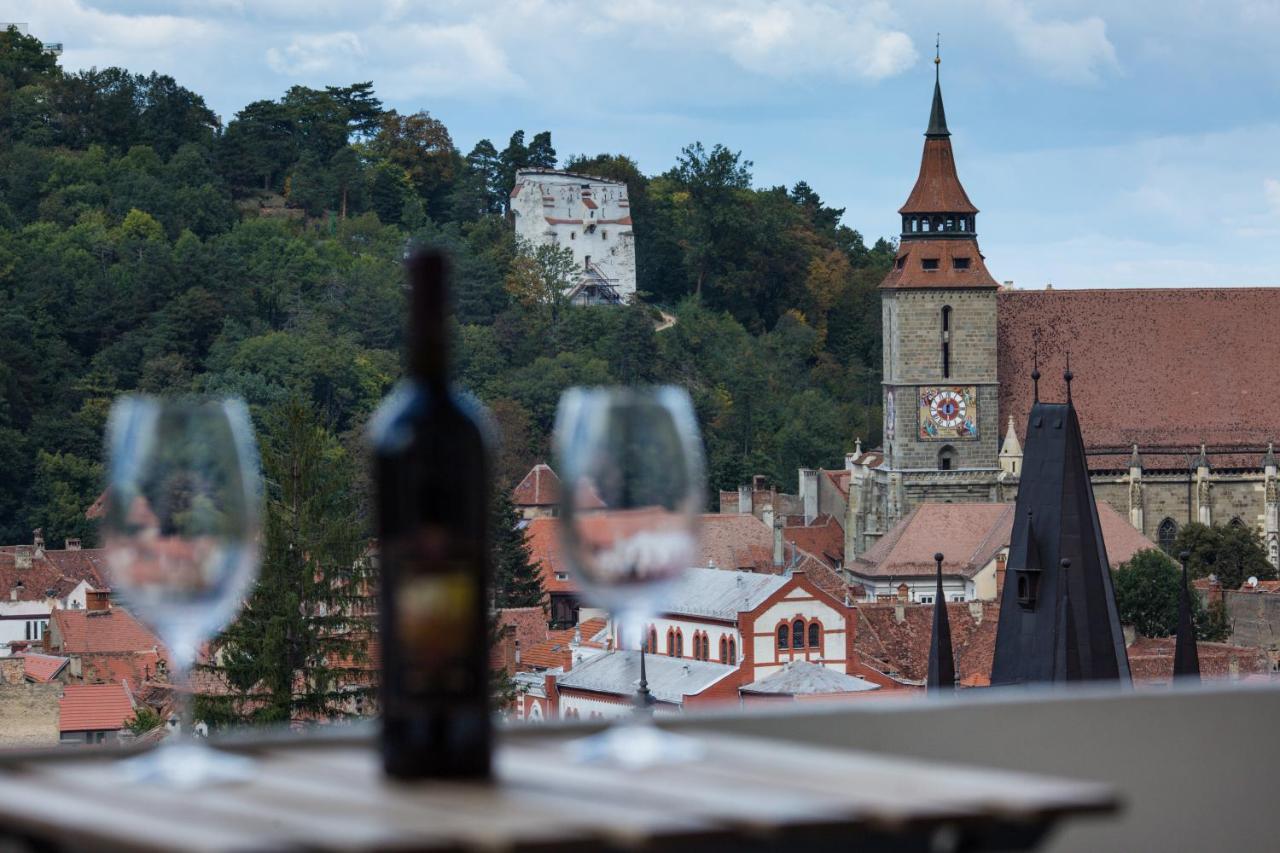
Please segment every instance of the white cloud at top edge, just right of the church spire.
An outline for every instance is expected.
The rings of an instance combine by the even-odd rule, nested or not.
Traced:
[[[1119,67],[1107,24],[1098,15],[1078,20],[1038,19],[1024,0],[989,0],[992,19],[1004,26],[1033,70],[1066,83],[1093,83]]]

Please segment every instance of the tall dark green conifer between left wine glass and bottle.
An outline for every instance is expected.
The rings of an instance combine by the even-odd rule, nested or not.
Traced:
[[[273,409],[262,442],[266,517],[262,569],[239,619],[223,634],[223,665],[238,692],[219,720],[246,708],[253,722],[326,720],[369,695],[369,576],[346,452],[315,410]]]

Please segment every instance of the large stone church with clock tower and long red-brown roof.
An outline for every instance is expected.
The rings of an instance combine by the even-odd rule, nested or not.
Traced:
[[[881,286],[883,447],[850,455],[833,480],[847,484],[845,565],[922,502],[1014,501],[1032,374],[1061,396],[1068,361],[1098,500],[1166,548],[1189,521],[1254,528],[1280,565],[1280,424],[1265,391],[1280,288],[1001,286],[937,79],[924,136]]]

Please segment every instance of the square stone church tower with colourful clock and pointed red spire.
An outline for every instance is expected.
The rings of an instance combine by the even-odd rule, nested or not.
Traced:
[[[881,284],[884,465],[906,476],[998,467],[998,284],[978,250],[978,209],[956,175],[933,61],[920,174],[899,210],[901,242]]]

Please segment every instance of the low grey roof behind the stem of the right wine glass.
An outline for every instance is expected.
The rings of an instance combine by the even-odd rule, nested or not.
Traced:
[[[695,661],[687,657],[649,654],[645,679],[659,702],[680,703],[737,672],[736,666]],[[634,695],[640,684],[640,652],[605,652],[580,663],[558,680],[561,689]]]

